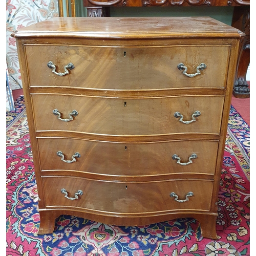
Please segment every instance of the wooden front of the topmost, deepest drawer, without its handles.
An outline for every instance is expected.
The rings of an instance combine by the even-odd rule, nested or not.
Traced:
[[[30,86],[60,86],[140,90],[183,87],[225,87],[230,46],[176,47],[82,47],[27,45]],[[36,53],[36,54],[35,54]],[[70,74],[58,76],[47,67],[53,61],[56,72],[72,62]],[[187,73],[201,75],[189,78],[177,66],[183,63]],[[35,65],[36,63],[36,65]]]

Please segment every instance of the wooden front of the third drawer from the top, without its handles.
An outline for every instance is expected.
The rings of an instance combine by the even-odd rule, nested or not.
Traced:
[[[170,173],[214,174],[218,141],[172,141],[157,143],[113,143],[69,138],[38,138],[42,170],[79,170],[81,172],[134,176]],[[49,145],[51,145],[49,150]],[[75,162],[61,161],[57,152],[72,160],[74,153],[81,156]],[[177,154],[181,165],[172,156]]]

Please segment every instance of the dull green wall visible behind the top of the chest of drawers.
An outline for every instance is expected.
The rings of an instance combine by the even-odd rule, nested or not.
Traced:
[[[231,25],[233,7],[110,7],[112,17],[153,17],[153,16],[210,16]],[[86,7],[82,6],[82,1],[76,1],[77,16],[87,16]]]

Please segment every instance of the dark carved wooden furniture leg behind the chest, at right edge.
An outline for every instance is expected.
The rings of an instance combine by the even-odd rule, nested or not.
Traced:
[[[250,63],[250,9],[248,7],[235,7],[232,26],[245,33],[238,59],[233,95],[236,98],[249,98],[250,90],[246,82],[246,73]]]

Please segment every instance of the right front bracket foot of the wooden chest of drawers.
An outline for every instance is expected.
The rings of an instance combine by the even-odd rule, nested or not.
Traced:
[[[219,239],[216,233],[217,216],[201,215],[197,220],[200,222],[203,238]]]

